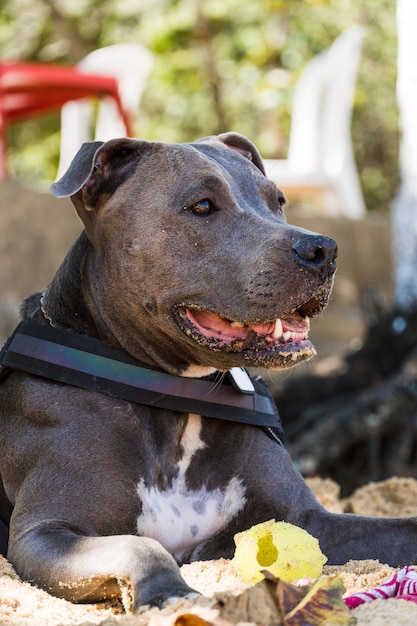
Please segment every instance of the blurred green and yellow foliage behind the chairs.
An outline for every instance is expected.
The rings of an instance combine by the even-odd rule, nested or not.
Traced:
[[[352,137],[369,209],[389,208],[398,176],[392,0],[2,0],[3,59],[74,64],[95,48],[140,42],[155,55],[137,134],[191,141],[236,130],[285,158],[292,90],[308,60],[362,24]],[[10,130],[11,168],[53,179],[59,115]]]

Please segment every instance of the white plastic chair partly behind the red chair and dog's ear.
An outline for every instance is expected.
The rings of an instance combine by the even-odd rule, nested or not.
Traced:
[[[82,59],[77,67],[89,74],[104,74],[116,78],[124,110],[132,119],[153,66],[152,54],[138,44],[116,44],[99,48]],[[94,103],[74,100],[61,109],[61,148],[58,178],[68,169],[81,144],[93,139],[107,141],[125,137],[126,127],[111,98],[102,98],[94,129]]]

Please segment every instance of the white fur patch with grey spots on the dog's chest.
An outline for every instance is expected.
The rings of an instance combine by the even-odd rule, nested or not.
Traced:
[[[159,541],[176,559],[201,541],[208,539],[245,505],[245,489],[239,478],[232,478],[222,488],[190,490],[186,473],[194,454],[205,448],[200,438],[201,418],[190,414],[181,439],[184,454],[179,472],[169,489],[137,485],[142,513],[137,519],[139,535]]]

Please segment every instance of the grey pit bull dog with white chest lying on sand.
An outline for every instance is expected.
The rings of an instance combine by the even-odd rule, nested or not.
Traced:
[[[287,225],[248,139],[85,144],[52,191],[71,197],[85,230],[44,294],[25,301],[24,320],[98,338],[179,380],[315,354],[309,318],[327,304],[336,244]],[[128,588],[133,609],[186,596],[179,564],[231,557],[235,533],[271,518],[316,536],[329,563],[417,560],[414,519],[325,511],[257,425],[17,369],[0,385],[0,413],[8,558],[57,596],[92,602]]]

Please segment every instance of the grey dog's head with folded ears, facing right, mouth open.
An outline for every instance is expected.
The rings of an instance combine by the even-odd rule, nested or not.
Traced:
[[[315,354],[309,318],[327,304],[336,244],[287,225],[245,137],[84,144],[52,192],[71,196],[91,242],[96,323],[136,358],[202,374]]]

